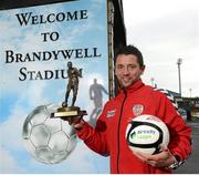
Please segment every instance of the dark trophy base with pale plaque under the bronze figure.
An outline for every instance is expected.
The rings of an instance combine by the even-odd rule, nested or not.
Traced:
[[[60,107],[56,112],[51,113],[51,117],[73,117],[87,115],[86,111],[82,111],[78,106]]]

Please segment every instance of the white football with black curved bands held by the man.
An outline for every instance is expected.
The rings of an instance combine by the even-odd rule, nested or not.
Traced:
[[[159,117],[139,115],[127,125],[126,141],[133,152],[156,154],[160,151],[160,144],[168,145],[169,131]]]

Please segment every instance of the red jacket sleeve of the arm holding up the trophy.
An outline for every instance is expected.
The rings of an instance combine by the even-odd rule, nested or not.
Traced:
[[[85,122],[83,128],[76,131],[76,134],[91,150],[103,156],[108,156],[109,150],[106,137],[105,111],[106,110],[103,110],[102,114],[100,115],[95,128],[92,127],[87,122]]]

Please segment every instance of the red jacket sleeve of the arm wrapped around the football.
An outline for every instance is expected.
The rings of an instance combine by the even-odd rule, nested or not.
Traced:
[[[160,96],[158,115],[163,117],[170,132],[168,148],[185,161],[191,154],[191,128],[186,125],[169,99],[165,94]]]

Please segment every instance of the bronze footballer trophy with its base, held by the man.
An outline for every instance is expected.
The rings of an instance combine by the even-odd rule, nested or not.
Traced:
[[[62,103],[62,107],[59,107],[56,112],[51,114],[51,117],[72,117],[72,116],[83,116],[87,115],[86,111],[82,111],[81,107],[75,106],[75,101],[78,92],[78,78],[82,78],[82,69],[76,69],[73,66],[72,62],[67,62],[67,86],[65,93],[65,101]],[[73,91],[72,104],[69,106],[67,100],[70,93]]]

